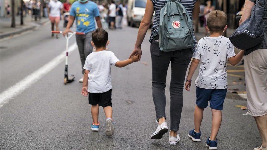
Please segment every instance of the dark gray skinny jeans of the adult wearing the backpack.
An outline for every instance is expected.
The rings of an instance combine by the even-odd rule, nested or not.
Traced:
[[[156,39],[156,40],[155,40]],[[166,118],[166,76],[171,62],[170,113],[171,131],[178,131],[183,109],[183,88],[187,67],[192,58],[191,49],[163,52],[159,50],[158,36],[150,45],[152,60],[152,96],[156,110],[156,120]]]

